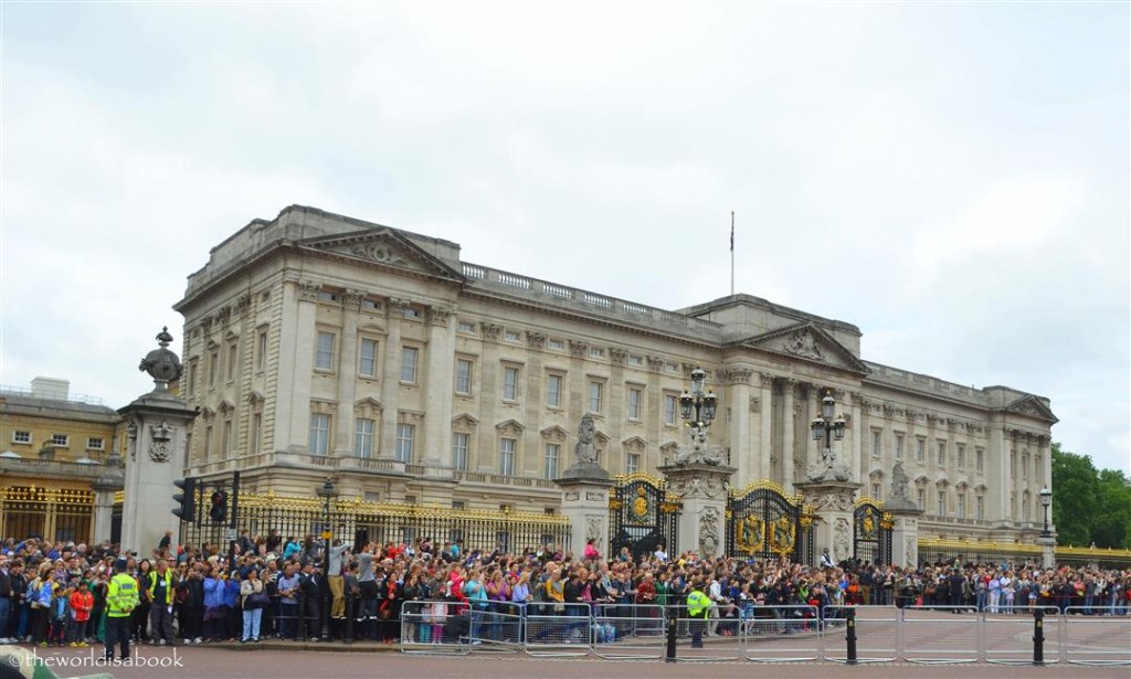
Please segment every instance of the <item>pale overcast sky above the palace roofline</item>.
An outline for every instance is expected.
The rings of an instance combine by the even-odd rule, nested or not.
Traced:
[[[1052,399],[1131,470],[1126,3],[27,3],[2,11],[0,383],[121,407],[288,204]]]

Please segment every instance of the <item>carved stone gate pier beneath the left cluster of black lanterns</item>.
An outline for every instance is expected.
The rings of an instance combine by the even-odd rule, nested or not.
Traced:
[[[691,462],[659,468],[667,486],[683,498],[679,521],[679,545],[672,554],[693,550],[701,557],[726,551],[726,497],[733,467]]]

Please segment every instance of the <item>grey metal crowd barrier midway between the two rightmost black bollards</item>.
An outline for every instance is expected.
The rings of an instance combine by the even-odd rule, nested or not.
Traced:
[[[982,655],[979,615],[969,606],[904,607],[900,609],[903,658],[908,662],[977,662]],[[955,625],[955,620],[973,625]],[[858,627],[857,627],[858,630]]]

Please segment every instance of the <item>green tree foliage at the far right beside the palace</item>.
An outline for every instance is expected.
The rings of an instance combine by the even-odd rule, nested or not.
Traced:
[[[1097,470],[1088,455],[1052,444],[1053,515],[1059,545],[1131,549],[1131,480]]]

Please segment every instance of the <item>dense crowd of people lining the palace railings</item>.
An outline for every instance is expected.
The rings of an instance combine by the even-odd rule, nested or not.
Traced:
[[[829,607],[851,604],[1000,613],[1071,607],[1069,612],[1095,616],[1125,616],[1131,609],[1131,568],[1045,569],[959,559],[918,568],[805,566],[670,556],[663,546],[637,557],[628,549],[610,557],[592,540],[580,555],[553,545],[508,552],[426,538],[336,541],[326,550],[312,536],[284,538],[275,531],[258,538],[244,531],[227,546],[178,546],[170,534],[148,557],[120,554],[109,543],[9,538],[0,546],[0,643],[103,643],[111,658],[115,645],[127,656],[131,642],[440,643],[450,630],[439,621],[461,610],[473,620],[476,611],[573,617],[590,610],[658,619],[665,607],[679,606],[702,617],[707,636],[724,636],[745,619],[801,615],[797,609],[823,617]],[[412,639],[400,638],[403,621]],[[596,633],[611,637],[606,641],[619,634]]]

